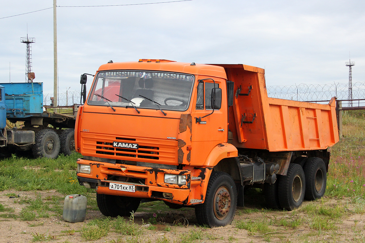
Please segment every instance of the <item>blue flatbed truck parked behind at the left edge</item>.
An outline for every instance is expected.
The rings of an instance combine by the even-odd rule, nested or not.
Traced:
[[[74,151],[74,115],[45,110],[43,83],[0,83],[0,148],[56,158]]]

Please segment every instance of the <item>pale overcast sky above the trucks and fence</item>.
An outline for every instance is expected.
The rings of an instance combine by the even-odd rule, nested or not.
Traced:
[[[365,81],[365,1],[57,0],[59,92],[80,89],[80,75],[109,60],[169,59],[265,68],[266,85]],[[167,0],[174,1],[174,0]],[[53,7],[53,0],[1,0],[0,18]],[[32,71],[53,93],[53,9],[0,19],[0,82]],[[91,79],[88,81],[90,87]]]

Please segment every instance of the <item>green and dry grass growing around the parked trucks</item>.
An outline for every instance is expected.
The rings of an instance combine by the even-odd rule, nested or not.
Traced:
[[[344,129],[354,130],[351,126],[359,119],[364,120],[364,116],[359,114],[346,114],[344,119]],[[365,125],[365,124],[364,124]],[[358,126],[357,130],[365,132],[365,126]],[[359,134],[362,132],[360,131]],[[238,207],[234,226],[227,235],[224,236],[226,242],[237,242],[239,232],[247,232],[253,239],[260,237],[261,241],[270,242],[274,238],[281,239],[282,242],[289,242],[288,234],[297,234],[305,229],[308,235],[301,238],[301,242],[323,242],[323,235],[329,235],[328,239],[335,242],[339,238],[337,231],[344,219],[351,215],[365,213],[365,138],[346,135],[341,141],[331,149],[331,160],[327,174],[327,188],[323,199],[313,202],[305,202],[302,207],[295,211],[278,211],[266,209],[262,192],[260,189],[249,189],[246,193],[253,200],[246,207]],[[0,191],[13,189],[16,191],[34,191],[35,197],[24,197],[13,200],[22,204],[20,213],[14,213],[14,209],[7,205],[0,204],[0,221],[8,218],[16,218],[26,221],[38,220],[51,216],[61,217],[65,195],[82,194],[88,197],[88,209],[97,210],[95,191],[81,187],[76,180],[76,160],[80,154],[71,156],[59,156],[55,160],[47,158],[31,159],[27,157],[12,157],[0,160]],[[64,196],[40,196],[38,190],[55,190]],[[16,197],[15,193],[8,193],[6,196]],[[246,202],[245,202],[246,204]],[[12,211],[11,211],[12,210]],[[137,212],[145,213],[145,223],[149,217],[152,221],[153,213],[165,215],[170,210],[162,201],[151,201],[142,203]],[[193,208],[178,209],[178,213],[193,215]],[[143,222],[136,223],[134,218],[97,218],[90,220],[81,228],[76,230],[69,228],[62,231],[62,236],[81,235],[86,241],[97,239],[112,239],[111,235],[118,234],[118,239],[110,240],[115,243],[134,242],[160,242],[160,243],[186,243],[186,242],[220,242],[212,231],[204,227],[188,228],[186,232],[177,233],[176,227],[166,225],[165,228],[150,230],[141,227]],[[41,226],[42,220],[30,222],[29,227]],[[154,226],[155,227],[155,226]],[[155,232],[166,232],[175,235],[172,240],[165,236],[150,239],[147,234]],[[364,239],[365,227],[358,222],[354,222],[349,228],[348,242],[362,242]],[[324,233],[326,232],[326,233]],[[57,233],[54,233],[58,235]],[[282,234],[282,235],[280,235]],[[285,235],[286,234],[286,235]],[[274,235],[274,236],[273,236]],[[47,234],[37,234],[33,236],[33,241],[51,241],[52,237]],[[223,239],[222,239],[223,240]],[[250,239],[247,240],[250,242]],[[63,240],[62,242],[68,242]]]

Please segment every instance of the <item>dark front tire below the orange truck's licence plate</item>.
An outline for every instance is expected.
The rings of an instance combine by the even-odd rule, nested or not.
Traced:
[[[141,199],[138,197],[123,197],[106,194],[96,194],[96,202],[99,210],[107,217],[130,216],[135,212]]]

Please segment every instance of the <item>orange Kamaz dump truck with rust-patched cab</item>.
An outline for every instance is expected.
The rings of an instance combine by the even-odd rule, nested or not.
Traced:
[[[268,207],[287,210],[322,197],[327,148],[338,140],[334,99],[268,98],[264,69],[110,61],[78,110],[77,178],[96,188],[105,216],[163,200],[195,207],[199,224],[224,226],[244,187],[263,188]]]

